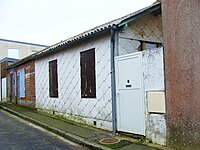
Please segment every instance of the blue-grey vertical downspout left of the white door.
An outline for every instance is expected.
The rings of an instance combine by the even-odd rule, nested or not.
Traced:
[[[111,92],[112,92],[112,128],[113,135],[116,135],[117,131],[117,105],[116,105],[116,84],[115,84],[115,35],[117,27],[113,25],[111,28]]]

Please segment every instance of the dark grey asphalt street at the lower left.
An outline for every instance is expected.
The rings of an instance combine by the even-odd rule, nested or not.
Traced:
[[[77,150],[39,129],[26,125],[0,110],[0,150]]]

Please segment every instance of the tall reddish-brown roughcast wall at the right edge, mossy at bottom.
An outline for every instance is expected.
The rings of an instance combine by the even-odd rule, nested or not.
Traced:
[[[200,149],[200,1],[162,0],[167,146]]]

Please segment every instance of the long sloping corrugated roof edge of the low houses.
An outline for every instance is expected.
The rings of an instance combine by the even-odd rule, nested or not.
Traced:
[[[37,59],[37,58],[41,58],[43,56],[46,56],[47,54],[50,54],[50,53],[53,53],[53,52],[57,52],[67,46],[70,46],[72,44],[75,44],[76,42],[80,42],[84,39],[87,39],[91,36],[95,36],[95,35],[98,35],[98,34],[101,34],[101,33],[104,33],[104,32],[108,32],[110,31],[110,29],[116,25],[116,26],[122,26],[123,25],[123,22],[127,23],[127,21],[133,21],[139,17],[141,17],[142,15],[145,15],[147,13],[150,13],[149,11],[150,10],[154,10],[154,9],[159,9],[160,8],[160,2],[156,2],[154,3],[153,5],[151,6],[148,6],[148,7],[145,7],[141,10],[138,10],[134,13],[131,13],[129,15],[126,15],[124,17],[121,17],[119,19],[116,19],[116,20],[113,20],[113,21],[110,21],[110,22],[107,22],[105,24],[102,24],[100,26],[97,26],[91,30],[88,30],[88,31],[85,31],[81,34],[78,34],[76,36],[73,36],[69,39],[66,39],[64,41],[61,41],[59,43],[56,43],[50,47],[47,47],[45,49],[43,49],[42,51],[39,51],[33,55],[30,55],[24,59],[21,59],[20,61],[16,62],[15,64],[11,65],[9,68],[12,68],[12,67],[16,67],[16,66],[19,66],[23,63],[26,63],[28,61],[31,61],[31,60],[34,60],[34,59]],[[131,19],[132,20],[129,20]]]

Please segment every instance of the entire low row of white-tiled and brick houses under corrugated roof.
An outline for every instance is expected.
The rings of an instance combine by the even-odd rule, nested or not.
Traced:
[[[165,145],[162,43],[161,5],[155,3],[13,64],[8,97]],[[35,93],[28,84],[35,84]]]

